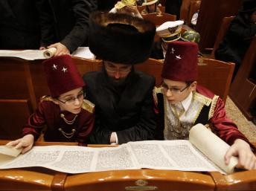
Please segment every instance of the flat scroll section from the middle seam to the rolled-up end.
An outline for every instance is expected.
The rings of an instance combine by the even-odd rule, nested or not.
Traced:
[[[141,168],[219,171],[188,140],[147,140],[129,145]]]

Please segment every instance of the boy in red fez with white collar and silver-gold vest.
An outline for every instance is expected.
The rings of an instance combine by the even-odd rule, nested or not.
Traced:
[[[158,106],[158,139],[188,139],[189,130],[202,123],[231,145],[225,154],[228,164],[238,156],[237,167],[256,169],[255,147],[225,114],[223,100],[196,85],[198,47],[193,42],[171,42],[164,59],[161,88],[153,91]],[[251,147],[252,149],[251,149]]]

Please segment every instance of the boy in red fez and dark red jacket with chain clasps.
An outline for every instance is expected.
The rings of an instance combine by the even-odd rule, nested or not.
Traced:
[[[44,125],[45,141],[86,144],[94,126],[94,105],[83,100],[83,82],[71,56],[56,56],[43,63],[51,96],[41,98],[38,109],[22,130],[23,137],[7,145],[28,152]]]

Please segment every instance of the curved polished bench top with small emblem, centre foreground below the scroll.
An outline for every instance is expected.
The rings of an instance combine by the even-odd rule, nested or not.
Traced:
[[[83,180],[83,181],[82,181]],[[196,172],[140,169],[69,175],[66,191],[82,190],[214,190],[210,175]]]

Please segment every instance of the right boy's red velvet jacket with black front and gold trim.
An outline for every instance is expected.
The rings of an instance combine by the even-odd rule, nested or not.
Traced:
[[[202,123],[203,125],[210,124],[211,130],[229,145],[232,145],[234,143],[234,140],[236,140],[237,138],[246,140],[246,142],[249,143],[249,140],[237,129],[237,126],[227,117],[225,113],[225,104],[223,100],[220,99],[220,97],[216,97],[213,92],[200,85],[196,86],[196,92],[210,98],[212,101],[210,106],[204,106],[193,125],[196,125],[197,123]],[[159,116],[159,126],[157,130],[158,132],[156,132],[156,139],[163,139],[165,112],[163,106],[164,97],[163,94],[158,92],[155,94],[154,97],[157,103],[156,112]],[[255,146],[253,146],[251,143],[250,145],[254,150],[256,150]]]

